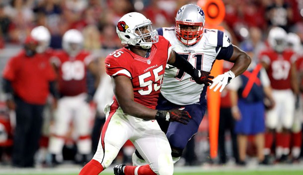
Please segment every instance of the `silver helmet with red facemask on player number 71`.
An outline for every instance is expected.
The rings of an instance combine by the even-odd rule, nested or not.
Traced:
[[[205,14],[201,7],[195,4],[183,5],[176,15],[175,31],[179,41],[185,45],[196,44],[201,38],[205,23]],[[180,25],[198,26],[197,31],[182,30]]]

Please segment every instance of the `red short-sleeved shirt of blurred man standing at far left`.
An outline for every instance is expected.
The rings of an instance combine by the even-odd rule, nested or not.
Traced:
[[[49,94],[49,82],[56,79],[48,55],[37,53],[25,56],[21,50],[8,60],[3,77],[11,81],[14,93],[31,104],[45,104]]]

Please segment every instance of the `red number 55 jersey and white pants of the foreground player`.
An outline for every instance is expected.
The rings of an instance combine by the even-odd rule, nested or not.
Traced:
[[[141,57],[124,47],[109,54],[105,60],[106,73],[111,77],[128,77],[134,89],[134,100],[155,109],[164,69],[171,45],[159,36],[152,44],[148,58]],[[171,149],[164,132],[155,120],[143,120],[125,114],[117,99],[104,108],[106,122],[101,132],[98,149],[93,159],[108,168],[120,148],[130,139],[153,172],[165,174],[173,168]]]

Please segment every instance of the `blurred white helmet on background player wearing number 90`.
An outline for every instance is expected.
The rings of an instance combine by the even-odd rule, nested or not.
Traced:
[[[76,29],[68,30],[62,39],[63,49],[71,56],[76,56],[83,47],[83,36]]]

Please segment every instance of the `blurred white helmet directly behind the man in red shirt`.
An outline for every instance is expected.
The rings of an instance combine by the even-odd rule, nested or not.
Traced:
[[[30,35],[33,37],[33,39],[38,41],[38,46],[36,48],[37,53],[42,53],[49,47],[51,42],[51,34],[46,27],[37,26],[33,28]]]

